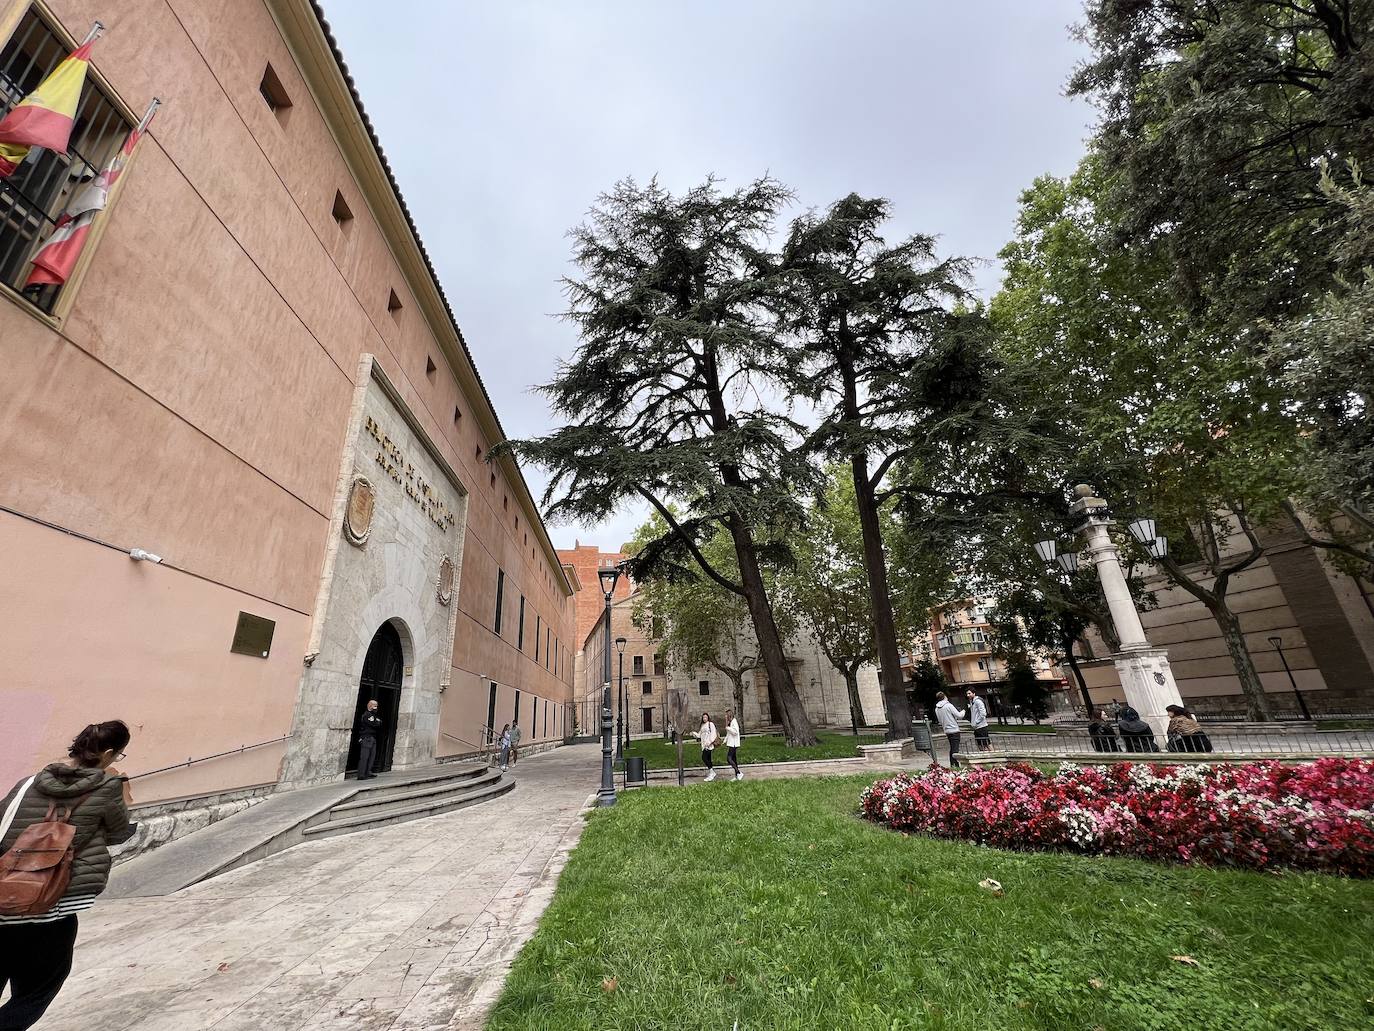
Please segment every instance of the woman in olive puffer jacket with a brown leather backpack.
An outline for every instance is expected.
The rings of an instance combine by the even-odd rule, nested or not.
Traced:
[[[110,878],[110,845],[133,834],[129,781],[113,763],[124,759],[129,729],[121,720],[92,723],[71,742],[67,763],[52,763],[16,784],[0,800],[0,1028],[22,1031],[58,997],[71,972],[77,914],[91,909]],[[33,823],[62,818],[76,828],[70,880],[45,913],[4,911],[5,858]],[[92,1017],[99,1024],[99,1017]]]

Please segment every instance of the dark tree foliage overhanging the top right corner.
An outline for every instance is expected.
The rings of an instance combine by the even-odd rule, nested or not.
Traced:
[[[1103,113],[1110,249],[1160,263],[1190,323],[1264,359],[1303,422],[1287,521],[1367,577],[1374,0],[1092,0],[1081,36],[1070,92]]]

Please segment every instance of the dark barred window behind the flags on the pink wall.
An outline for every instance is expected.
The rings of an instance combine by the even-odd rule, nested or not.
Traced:
[[[0,48],[0,117],[32,93],[71,52],[36,8],[19,19]],[[99,44],[96,44],[99,54]],[[133,126],[87,74],[67,154],[34,147],[8,179],[0,179],[0,282],[52,312],[60,285],[23,289],[37,253],[67,202],[114,157]]]

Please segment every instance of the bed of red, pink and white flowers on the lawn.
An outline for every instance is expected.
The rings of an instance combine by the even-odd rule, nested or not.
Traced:
[[[998,848],[1374,876],[1374,762],[1322,759],[1057,773],[1013,763],[878,781],[861,815]]]

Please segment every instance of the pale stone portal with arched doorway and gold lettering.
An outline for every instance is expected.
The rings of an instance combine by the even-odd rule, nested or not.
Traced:
[[[452,672],[467,489],[371,355],[356,382],[282,786],[352,768],[363,689],[396,707],[390,766],[431,763]],[[378,634],[392,665],[400,656],[385,686],[371,652]]]

